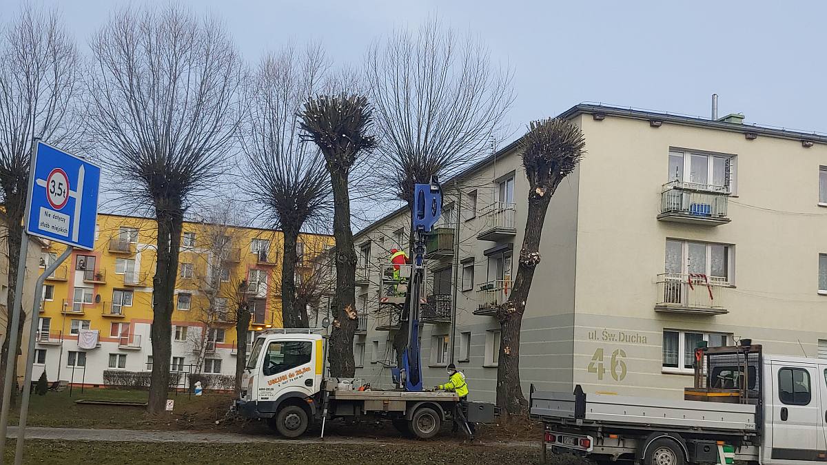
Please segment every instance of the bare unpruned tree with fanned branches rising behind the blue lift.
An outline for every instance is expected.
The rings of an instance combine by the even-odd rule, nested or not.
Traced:
[[[452,175],[480,155],[514,99],[511,74],[491,65],[485,46],[457,39],[436,20],[372,46],[366,74],[387,165],[377,185],[409,209],[414,184]],[[394,338],[400,363],[408,320],[403,314]]]

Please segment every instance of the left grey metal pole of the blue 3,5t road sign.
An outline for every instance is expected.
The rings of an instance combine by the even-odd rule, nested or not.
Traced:
[[[29,190],[26,192],[26,211],[31,204],[31,189],[35,180],[35,159],[37,154],[37,141],[40,137],[31,140],[31,151],[29,152]],[[20,236],[20,256],[17,257],[17,283],[14,285],[14,308],[12,309],[12,333],[9,337],[8,353],[6,354],[6,377],[3,379],[4,389],[2,391],[2,411],[0,411],[0,465],[2,465],[3,451],[6,448],[6,434],[8,430],[8,410],[12,402],[12,389],[17,389],[17,380],[12,379],[16,368],[17,360],[17,328],[20,326],[20,314],[23,309],[23,280],[26,279],[26,259],[29,255],[29,236],[26,234],[26,225]],[[9,257],[11,259],[12,257]],[[34,315],[32,315],[33,317]],[[34,325],[36,320],[31,319]]]

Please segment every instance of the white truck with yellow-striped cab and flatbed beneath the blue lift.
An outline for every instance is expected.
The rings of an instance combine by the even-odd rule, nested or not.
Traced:
[[[314,329],[270,329],[256,341],[242,377],[235,409],[265,419],[287,438],[297,438],[314,421],[347,417],[390,419],[403,434],[433,438],[452,419],[459,399],[453,392],[360,391],[353,379],[324,379],[325,341]],[[468,421],[494,419],[494,405],[466,402]]]

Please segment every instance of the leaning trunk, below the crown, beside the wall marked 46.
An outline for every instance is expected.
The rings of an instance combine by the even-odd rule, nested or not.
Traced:
[[[523,325],[525,303],[534,278],[534,269],[540,262],[540,237],[553,191],[537,195],[536,189],[528,194],[528,217],[525,222],[523,247],[519,252],[517,277],[509,300],[497,309],[500,321],[500,360],[497,367],[497,405],[509,414],[522,415],[528,402],[519,381],[519,338]]]

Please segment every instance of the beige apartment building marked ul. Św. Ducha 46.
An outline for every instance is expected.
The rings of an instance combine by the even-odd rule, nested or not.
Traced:
[[[580,384],[680,398],[700,341],[751,338],[767,352],[827,357],[827,137],[741,115],[581,104],[561,117],[581,127],[587,153],[547,213],[521,336],[526,393]],[[527,205],[516,142],[443,186],[421,296],[425,384],[445,378],[453,348],[472,395],[494,400],[495,307],[516,273]],[[388,262],[408,231],[400,210],[356,235],[368,317],[357,375],[374,384],[390,383],[395,363],[404,282]]]

